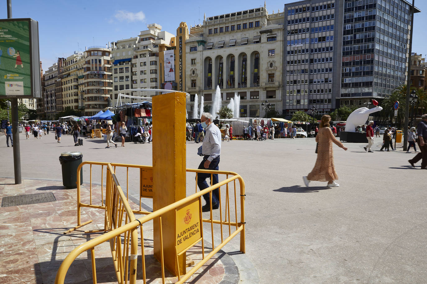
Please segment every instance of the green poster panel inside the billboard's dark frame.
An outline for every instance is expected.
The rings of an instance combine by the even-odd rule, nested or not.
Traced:
[[[29,21],[0,22],[0,97],[31,96]]]

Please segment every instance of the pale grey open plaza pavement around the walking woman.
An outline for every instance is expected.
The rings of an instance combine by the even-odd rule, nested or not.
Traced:
[[[21,138],[22,176],[61,179],[58,156],[78,149],[84,161],[152,164],[152,144],[104,149],[101,140],[52,135]],[[46,138],[46,139],[45,139]],[[0,137],[3,176],[13,177],[12,148]],[[155,143],[155,141],[154,141]],[[246,262],[238,238],[224,247],[244,283],[425,283],[427,279],[426,172],[407,160],[414,153],[364,151],[365,144],[334,146],[337,188],[312,182],[304,187],[316,160],[313,138],[223,142],[219,169],[239,173],[246,184]],[[187,142],[187,168],[197,168],[199,144]],[[88,172],[84,173],[87,181]],[[97,174],[94,173],[94,180]],[[187,175],[187,195],[194,193]],[[129,194],[137,190],[129,186]],[[144,200],[151,207],[149,200]],[[255,269],[254,269],[255,268]],[[230,268],[229,270],[233,270]],[[243,275],[242,273],[246,273]]]

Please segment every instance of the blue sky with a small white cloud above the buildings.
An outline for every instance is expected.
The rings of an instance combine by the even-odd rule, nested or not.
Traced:
[[[269,0],[271,13],[284,3],[295,1]],[[160,4],[160,5],[159,5]],[[178,4],[178,5],[177,5]],[[176,34],[181,22],[194,26],[206,17],[253,9],[264,1],[99,1],[99,0],[12,0],[14,18],[30,17],[39,23],[40,59],[46,71],[57,57],[67,57],[85,46],[105,46],[108,41],[136,37],[146,30],[146,24],[158,23],[164,30]],[[425,18],[427,1],[415,0],[422,12],[415,14],[412,52],[427,53]],[[0,2],[0,18],[7,18],[6,0]]]

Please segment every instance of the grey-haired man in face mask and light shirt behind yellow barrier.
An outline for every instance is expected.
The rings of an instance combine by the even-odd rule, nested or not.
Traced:
[[[201,126],[206,129],[205,139],[203,139],[202,154],[203,161],[199,165],[199,169],[218,170],[219,154],[221,152],[221,131],[218,126],[213,124],[213,117],[209,112],[202,113]],[[207,178],[211,178],[212,184],[218,183],[218,174],[211,174],[199,172],[197,174],[197,185],[200,190],[209,187],[206,182]],[[202,207],[202,212],[208,212],[211,209],[211,202],[209,193],[203,195],[206,204]],[[219,189],[212,190],[212,209],[219,208]]]

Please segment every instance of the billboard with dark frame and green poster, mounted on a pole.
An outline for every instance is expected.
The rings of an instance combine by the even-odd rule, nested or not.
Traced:
[[[40,98],[38,22],[0,19],[0,98]]]

